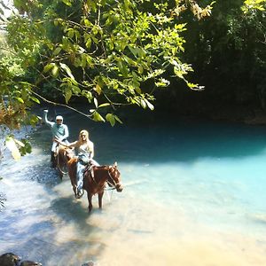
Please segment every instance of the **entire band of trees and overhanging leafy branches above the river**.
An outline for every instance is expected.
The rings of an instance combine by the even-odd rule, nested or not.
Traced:
[[[225,102],[264,108],[265,0],[14,5],[17,13],[2,16],[8,51],[0,55],[4,127],[34,125],[30,108],[42,101],[73,108],[85,99],[90,112],[84,115],[112,125],[121,122],[116,110],[127,105],[153,110],[155,103],[193,114]],[[21,147],[21,153],[29,151]]]

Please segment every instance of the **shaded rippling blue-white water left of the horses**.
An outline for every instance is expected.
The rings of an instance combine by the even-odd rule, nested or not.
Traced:
[[[105,245],[90,240],[98,227],[90,224],[86,199],[83,205],[74,199],[69,178],[64,176],[61,181],[50,168],[42,139],[35,145],[38,141],[41,151],[34,150],[18,163],[6,161],[1,168],[6,204],[0,213],[0,253],[13,252],[43,265],[82,265],[99,255]],[[81,256],[84,246],[89,252]]]

